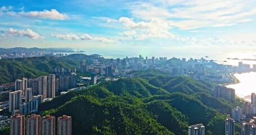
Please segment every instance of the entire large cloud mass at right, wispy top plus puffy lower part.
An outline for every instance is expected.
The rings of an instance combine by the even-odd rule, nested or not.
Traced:
[[[199,33],[202,31],[197,28],[232,26],[253,21],[256,16],[255,0],[159,0],[149,3],[131,2],[127,5],[133,18],[107,19],[107,23],[123,24],[124,31],[120,33],[123,37],[120,40],[164,38],[174,41],[172,43],[194,46],[251,44],[251,42],[242,44],[221,38],[182,37],[174,35],[171,31],[173,28],[179,28],[189,30],[190,33]]]

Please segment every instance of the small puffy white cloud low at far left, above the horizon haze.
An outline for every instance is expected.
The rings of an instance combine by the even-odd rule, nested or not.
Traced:
[[[15,29],[10,28],[6,31],[6,34],[2,34],[2,37],[10,37],[10,36],[28,37],[28,38],[32,38],[32,39],[44,38],[43,36],[39,35],[38,33],[35,33],[33,30],[30,30],[30,29],[15,30]]]

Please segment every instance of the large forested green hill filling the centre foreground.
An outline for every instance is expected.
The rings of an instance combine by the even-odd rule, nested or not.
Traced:
[[[224,134],[224,118],[238,104],[210,96],[212,84],[169,77],[158,70],[69,92],[39,106],[41,115],[72,116],[73,134]]]

